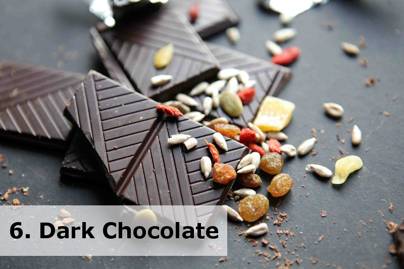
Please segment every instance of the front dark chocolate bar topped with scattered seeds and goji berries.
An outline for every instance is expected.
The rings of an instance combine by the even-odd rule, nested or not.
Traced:
[[[80,129],[87,147],[101,164],[100,170],[126,202],[222,204],[233,182],[216,184],[212,174],[205,180],[199,165],[201,157],[210,156],[204,139],[212,142],[214,131],[186,117],[163,116],[156,110],[157,104],[90,71],[65,115]],[[181,144],[169,146],[167,139],[178,133],[195,137],[197,146],[190,150]],[[236,167],[248,149],[226,140],[229,150],[219,149],[221,162]]]

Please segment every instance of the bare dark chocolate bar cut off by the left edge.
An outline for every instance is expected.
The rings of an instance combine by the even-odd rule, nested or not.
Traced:
[[[11,61],[0,63],[0,135],[63,147],[71,124],[62,113],[83,78]]]

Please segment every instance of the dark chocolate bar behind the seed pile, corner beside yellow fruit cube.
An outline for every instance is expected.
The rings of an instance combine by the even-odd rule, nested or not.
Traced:
[[[276,95],[288,81],[290,71],[268,61],[264,61],[233,49],[207,42],[209,49],[219,61],[222,69],[236,68],[245,70],[250,75],[251,80],[256,80],[257,84],[255,98],[247,105],[244,105],[243,114],[240,117],[233,118],[228,116],[221,107],[211,112],[212,118],[225,117],[230,123],[245,127],[247,122],[252,122],[258,112],[260,104],[266,95]],[[213,81],[212,81],[213,82]],[[203,111],[202,103],[205,94],[193,96],[199,103],[196,108]]]

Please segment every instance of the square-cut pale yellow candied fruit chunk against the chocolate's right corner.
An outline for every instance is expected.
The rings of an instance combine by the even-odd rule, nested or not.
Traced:
[[[266,96],[258,110],[254,125],[257,125],[263,132],[279,132],[289,124],[294,107],[292,102]]]

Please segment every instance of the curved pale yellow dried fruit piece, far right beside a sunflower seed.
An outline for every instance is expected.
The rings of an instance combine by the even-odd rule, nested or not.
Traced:
[[[355,155],[340,158],[335,163],[334,177],[332,184],[342,184],[350,173],[357,171],[363,167],[362,159]]]

